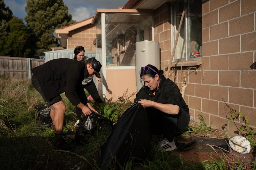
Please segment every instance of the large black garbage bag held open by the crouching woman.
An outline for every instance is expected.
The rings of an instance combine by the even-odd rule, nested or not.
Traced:
[[[124,112],[108,139],[100,146],[100,168],[104,170],[115,166],[118,169],[118,163],[124,166],[129,158],[147,158],[151,152],[151,140],[146,109],[136,101]]]

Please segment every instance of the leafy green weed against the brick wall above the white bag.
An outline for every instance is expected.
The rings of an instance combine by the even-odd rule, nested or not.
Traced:
[[[222,100],[224,101],[224,100]],[[242,112],[239,111],[237,113],[237,109],[232,109],[231,106],[227,105],[227,103],[224,101],[225,105],[227,106],[227,108],[229,109],[229,114],[231,116],[227,117],[227,122],[230,124],[231,122],[234,122],[234,124],[236,125],[236,127],[238,128],[239,134],[243,137],[246,137],[247,140],[250,142],[251,146],[254,147],[255,146],[255,137],[256,137],[256,133],[254,133],[254,128],[252,126],[250,126],[249,124],[249,119],[247,119],[247,116],[244,115],[242,116],[242,120],[243,122],[241,122],[241,115]],[[227,110],[227,109],[225,109]],[[236,122],[236,121],[238,122]],[[237,123],[239,123],[239,127],[237,125]]]

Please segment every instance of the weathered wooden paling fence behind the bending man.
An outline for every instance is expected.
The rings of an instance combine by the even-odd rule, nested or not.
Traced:
[[[0,56],[0,75],[1,77],[30,80],[30,69],[44,63],[44,59]]]

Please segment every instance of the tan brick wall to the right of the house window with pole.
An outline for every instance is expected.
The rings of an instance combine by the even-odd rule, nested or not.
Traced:
[[[195,115],[201,110],[214,127],[226,124],[225,130],[234,136],[237,129],[234,124],[227,123],[229,109],[223,101],[242,112],[241,122],[246,115],[249,124],[256,126],[256,71],[255,67],[250,67],[255,62],[256,3],[254,0],[210,0],[202,5],[202,10],[205,74],[202,85],[209,89],[209,96],[201,98],[201,108],[191,110]],[[196,83],[195,89],[200,86]],[[203,106],[204,103],[208,106]]]

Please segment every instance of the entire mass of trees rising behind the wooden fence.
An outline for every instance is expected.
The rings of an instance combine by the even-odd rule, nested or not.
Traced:
[[[0,55],[33,57],[59,47],[53,37],[55,29],[75,23],[62,0],[27,0],[27,16],[13,17],[4,0],[0,0]]]

